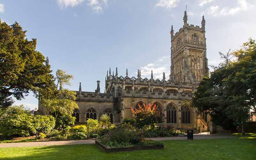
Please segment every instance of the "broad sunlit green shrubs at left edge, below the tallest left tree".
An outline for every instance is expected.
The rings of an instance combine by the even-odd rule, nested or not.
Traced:
[[[26,108],[10,106],[2,111],[0,133],[5,137],[28,136],[38,132],[48,133],[55,126],[52,116],[31,116]]]

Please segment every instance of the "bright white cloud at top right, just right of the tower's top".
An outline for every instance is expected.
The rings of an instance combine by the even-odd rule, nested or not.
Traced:
[[[226,16],[226,15],[234,15],[240,11],[246,11],[248,9],[248,4],[246,0],[237,0],[237,6],[234,8],[223,7],[220,9],[220,6],[211,6],[204,13],[213,15],[213,16]]]

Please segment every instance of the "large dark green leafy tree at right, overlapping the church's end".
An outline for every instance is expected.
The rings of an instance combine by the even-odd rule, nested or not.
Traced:
[[[224,62],[205,77],[192,105],[205,111],[224,129],[236,130],[256,110],[256,44],[249,39],[235,52],[222,54]]]

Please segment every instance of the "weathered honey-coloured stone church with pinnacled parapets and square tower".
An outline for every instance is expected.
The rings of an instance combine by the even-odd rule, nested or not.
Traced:
[[[153,103],[162,113],[159,125],[173,126],[181,130],[197,129],[212,132],[210,117],[204,113],[198,113],[196,108],[186,107],[182,100],[191,100],[195,88],[204,76],[209,75],[208,60],[206,58],[206,38],[204,16],[201,27],[188,24],[188,16],[185,11],[184,25],[174,34],[171,29],[171,74],[166,79],[141,78],[140,70],[137,77],[130,77],[126,69],[125,76],[119,76],[117,68],[107,71],[105,78],[105,92],[100,92],[100,81],[97,81],[95,92],[82,91],[81,83],[79,91],[76,91],[76,102],[79,109],[74,111],[76,123],[84,123],[88,118],[98,119],[102,114],[108,114],[111,122],[118,124],[124,118],[132,118],[132,108],[138,104]],[[46,109],[40,105],[39,110],[46,113]]]

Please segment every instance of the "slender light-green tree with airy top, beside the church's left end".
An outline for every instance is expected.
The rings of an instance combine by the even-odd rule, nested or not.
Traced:
[[[55,117],[57,129],[75,122],[75,118],[71,115],[74,109],[78,109],[75,101],[76,92],[63,89],[63,85],[71,84],[72,78],[72,75],[58,69],[54,78],[56,84],[52,88],[46,88],[40,92],[40,102],[48,109],[49,114]]]

